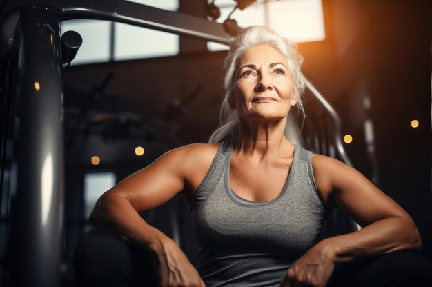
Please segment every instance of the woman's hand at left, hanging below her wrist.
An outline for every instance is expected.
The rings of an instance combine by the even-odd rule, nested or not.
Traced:
[[[156,243],[150,244],[149,248],[157,256],[162,287],[206,286],[198,271],[172,239],[162,237]]]

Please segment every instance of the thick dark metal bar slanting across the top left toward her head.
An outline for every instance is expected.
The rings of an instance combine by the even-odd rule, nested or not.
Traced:
[[[23,8],[49,10],[67,19],[100,19],[228,44],[222,24],[204,18],[124,0],[21,0],[7,1],[2,14]]]

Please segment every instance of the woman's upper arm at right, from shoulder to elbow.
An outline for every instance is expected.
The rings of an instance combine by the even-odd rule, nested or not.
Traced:
[[[411,217],[362,173],[336,159],[319,156],[315,166],[326,177],[331,199],[364,227],[388,217]]]

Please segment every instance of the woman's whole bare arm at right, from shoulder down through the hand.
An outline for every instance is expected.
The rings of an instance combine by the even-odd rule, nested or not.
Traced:
[[[340,206],[362,229],[318,242],[288,269],[281,286],[325,286],[336,263],[422,248],[411,216],[360,172],[322,155],[313,155],[312,165],[324,204]]]

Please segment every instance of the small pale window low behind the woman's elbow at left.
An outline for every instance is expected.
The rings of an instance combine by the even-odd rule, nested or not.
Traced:
[[[115,186],[114,172],[88,173],[84,175],[84,218],[88,219],[97,199]]]

